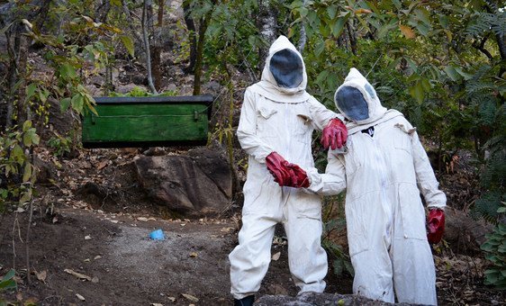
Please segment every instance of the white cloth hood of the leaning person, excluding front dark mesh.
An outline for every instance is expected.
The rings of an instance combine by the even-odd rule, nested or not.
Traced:
[[[353,121],[348,118],[347,114],[339,109],[339,105],[337,103],[337,95],[339,90],[344,86],[350,86],[357,88],[360,93],[364,96],[364,99],[367,103],[367,108],[369,109],[369,117],[365,120]],[[334,102],[336,103],[336,107],[339,112],[341,112],[349,121],[353,121],[359,125],[372,123],[383,117],[386,112],[386,108],[381,104],[378,95],[376,94],[375,88],[367,82],[366,77],[362,76],[360,72],[356,68],[349,69],[348,76],[346,76],[344,83],[339,86],[338,90],[336,90],[336,94],[334,94]]]

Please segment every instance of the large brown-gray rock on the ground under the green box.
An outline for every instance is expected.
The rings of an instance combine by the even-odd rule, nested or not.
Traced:
[[[210,216],[230,203],[230,166],[224,154],[195,148],[187,155],[140,157],[140,185],[158,203],[189,217]]]

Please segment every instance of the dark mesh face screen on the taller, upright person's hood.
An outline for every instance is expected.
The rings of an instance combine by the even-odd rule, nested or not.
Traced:
[[[271,58],[270,70],[280,87],[295,88],[303,82],[303,60],[291,49],[277,51]]]

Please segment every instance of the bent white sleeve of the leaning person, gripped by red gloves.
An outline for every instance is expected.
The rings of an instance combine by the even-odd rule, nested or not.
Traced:
[[[307,191],[320,195],[335,195],[346,188],[346,171],[344,158],[339,157],[335,150],[329,150],[325,174],[319,174],[314,167],[307,171],[311,184]]]

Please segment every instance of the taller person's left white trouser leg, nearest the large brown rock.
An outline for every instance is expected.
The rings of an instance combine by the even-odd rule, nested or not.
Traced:
[[[271,260],[271,244],[277,221],[248,214],[242,217],[239,245],[229,255],[230,293],[242,299],[258,292]]]

